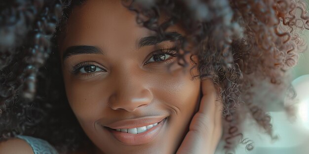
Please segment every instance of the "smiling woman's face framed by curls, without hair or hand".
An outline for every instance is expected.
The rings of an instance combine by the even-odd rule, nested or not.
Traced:
[[[67,97],[98,151],[172,154],[198,106],[198,72],[190,73],[190,55],[189,67],[175,62],[169,71],[174,43],[155,42],[135,19],[119,0],[87,0],[73,10],[59,44]],[[177,26],[166,32],[185,35]]]

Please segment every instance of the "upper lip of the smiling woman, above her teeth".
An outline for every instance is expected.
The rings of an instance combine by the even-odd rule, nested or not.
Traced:
[[[120,120],[113,123],[109,123],[105,126],[110,127],[112,129],[121,129],[121,128],[136,128],[147,126],[154,123],[159,123],[166,117],[141,117],[135,119],[127,119],[127,120]]]

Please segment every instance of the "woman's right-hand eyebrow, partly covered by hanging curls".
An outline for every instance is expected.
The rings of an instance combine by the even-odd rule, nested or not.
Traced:
[[[163,38],[158,38],[158,36],[148,36],[148,37],[143,37],[140,39],[138,43],[138,47],[142,48],[145,46],[151,46],[151,45],[156,45],[164,41],[170,41],[170,40],[182,40],[184,37],[182,34],[176,32],[176,31],[171,31],[171,32],[166,32],[164,33]]]

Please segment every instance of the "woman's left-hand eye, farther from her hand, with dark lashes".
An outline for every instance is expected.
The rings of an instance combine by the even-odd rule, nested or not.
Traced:
[[[93,62],[81,62],[73,67],[74,74],[91,74],[96,72],[106,72],[106,69]]]

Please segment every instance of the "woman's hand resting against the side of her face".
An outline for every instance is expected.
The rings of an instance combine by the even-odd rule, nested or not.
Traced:
[[[213,146],[213,130],[216,111],[216,90],[211,80],[201,82],[203,96],[198,112],[193,116],[189,132],[185,136],[177,154],[210,154]]]

